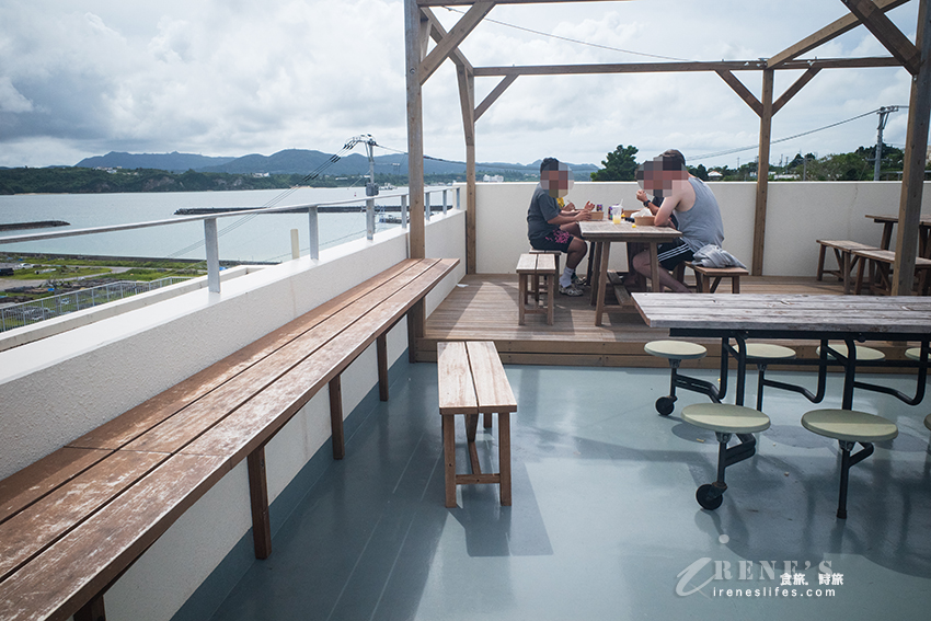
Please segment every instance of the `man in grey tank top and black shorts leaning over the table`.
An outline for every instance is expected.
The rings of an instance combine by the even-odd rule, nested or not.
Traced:
[[[721,245],[724,241],[724,223],[717,199],[703,181],[689,174],[682,153],[670,149],[653,161],[641,164],[636,174],[637,181],[643,180],[645,191],[644,195],[637,193],[639,199],[645,199],[645,194],[659,193],[663,196],[659,207],[648,205],[656,216],[655,225],[671,226],[675,212],[677,228],[682,232],[682,237],[675,242],[659,244],[657,250],[662,267],[674,269],[679,263],[691,261],[703,245]],[[635,255],[632,267],[648,278],[650,252]],[[659,271],[659,286],[653,284],[655,290],[662,291],[663,287],[668,287],[673,291],[688,294],[689,288],[665,269]]]

